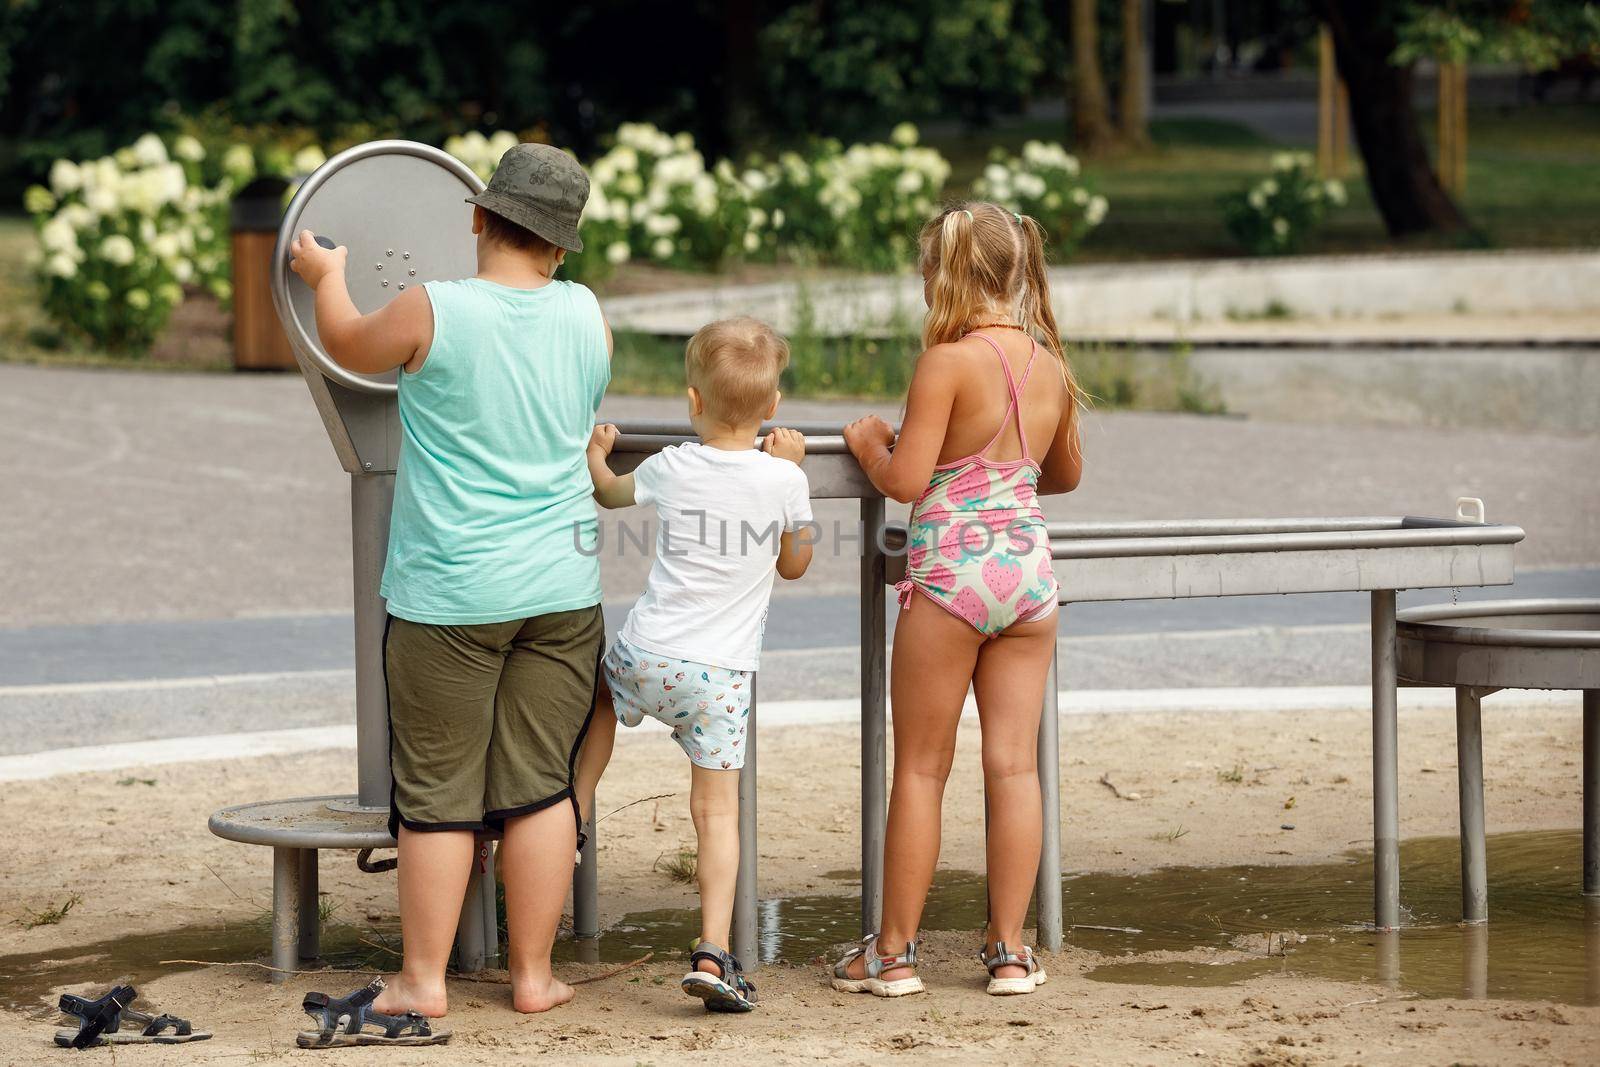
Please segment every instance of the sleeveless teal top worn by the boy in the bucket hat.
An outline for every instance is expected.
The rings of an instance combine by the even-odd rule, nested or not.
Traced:
[[[381,592],[411,622],[507,622],[600,603],[586,450],[611,379],[582,285],[429,282],[434,344],[400,373]]]

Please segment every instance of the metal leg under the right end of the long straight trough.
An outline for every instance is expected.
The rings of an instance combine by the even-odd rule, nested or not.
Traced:
[[[1395,590],[1373,590],[1373,925],[1400,926],[1400,749]]]

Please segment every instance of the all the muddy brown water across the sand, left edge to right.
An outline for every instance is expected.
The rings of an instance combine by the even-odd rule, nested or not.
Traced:
[[[1371,861],[1370,853],[1350,853],[1315,865],[1069,877],[1067,941],[1104,958],[1088,974],[1102,982],[1226,985],[1293,974],[1373,982],[1421,997],[1600,1003],[1600,899],[1578,893],[1578,830],[1490,837],[1488,926],[1456,921],[1456,838],[1405,841],[1400,856],[1408,926],[1398,936],[1363,928],[1371,915]],[[858,937],[856,873],[824,877],[842,893],[762,901],[762,961],[830,957]],[[982,875],[939,872],[923,926],[978,931],[984,912]],[[555,955],[582,961],[627,961],[646,952],[686,957],[698,933],[693,910],[635,912],[598,941],[563,937]],[[392,966],[394,957],[378,942],[398,945],[397,928],[333,923],[323,931],[323,957],[341,968]],[[262,960],[266,945],[267,926],[256,921],[120,937],[48,957],[0,957],[0,1005],[32,1009],[59,985],[118,976],[138,985],[182,969],[163,968],[160,960]]]

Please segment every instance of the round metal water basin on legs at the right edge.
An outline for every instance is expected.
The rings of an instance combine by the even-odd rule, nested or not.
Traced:
[[[1461,920],[1490,917],[1483,841],[1483,707],[1499,689],[1584,694],[1582,891],[1600,896],[1600,600],[1494,600],[1411,608],[1398,616],[1403,685],[1456,689],[1461,801]]]

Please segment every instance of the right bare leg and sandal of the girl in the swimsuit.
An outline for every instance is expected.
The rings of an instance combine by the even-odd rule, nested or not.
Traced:
[[[1022,920],[1038,873],[1038,715],[1056,646],[1056,614],[1016,622],[978,653],[973,693],[982,723],[984,798],[989,808],[989,928],[984,941],[1022,942]],[[1022,977],[1000,968],[997,977]]]

